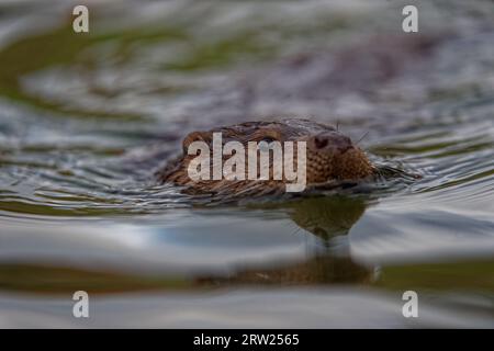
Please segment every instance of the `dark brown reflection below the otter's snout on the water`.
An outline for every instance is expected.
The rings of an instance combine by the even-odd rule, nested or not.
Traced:
[[[268,205],[272,206],[272,205]],[[323,239],[347,235],[366,210],[362,199],[348,196],[311,197],[281,205],[301,228]],[[262,270],[245,270],[229,278],[203,278],[201,284],[329,284],[363,283],[372,280],[372,271],[355,263],[348,252],[334,254],[327,250],[302,263]]]

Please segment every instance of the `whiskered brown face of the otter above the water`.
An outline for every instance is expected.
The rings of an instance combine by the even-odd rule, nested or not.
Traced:
[[[205,141],[212,149],[213,133],[222,133],[223,144],[234,140],[239,141],[246,150],[249,141],[294,141],[295,145],[296,141],[305,141],[306,183],[308,185],[332,180],[358,180],[373,173],[373,167],[364,152],[350,138],[340,134],[334,127],[308,120],[284,120],[281,122],[247,122],[209,132],[193,132],[183,139],[183,155],[179,161],[179,167],[175,171],[164,174],[162,180],[194,186],[190,179],[187,179],[188,165],[194,157],[188,155],[188,148],[192,141]],[[228,157],[226,156],[224,159]],[[272,174],[272,169],[270,172]],[[213,182],[212,186],[217,189],[222,186],[222,182],[228,181],[210,182]],[[259,182],[255,180],[237,182],[240,188],[249,182],[265,183],[266,186],[276,183],[276,181]],[[283,180],[278,181],[278,183],[280,182],[283,182]],[[201,181],[198,186],[206,186],[204,183],[206,181]]]

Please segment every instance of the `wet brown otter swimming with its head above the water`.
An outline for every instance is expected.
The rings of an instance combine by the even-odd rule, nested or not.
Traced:
[[[222,133],[223,143],[236,140],[246,149],[248,141],[305,141],[306,184],[311,188],[335,181],[363,180],[375,171],[364,151],[335,127],[311,120],[290,118],[245,122],[207,132],[192,132],[182,141],[182,155],[158,171],[159,181],[184,186],[187,192],[194,194],[229,194],[238,197],[283,191],[285,180],[273,180],[272,177],[263,181],[225,179],[193,181],[188,174],[188,167],[195,156],[188,155],[188,147],[192,141],[205,141],[212,149],[213,133]],[[272,162],[270,165],[272,174]]]

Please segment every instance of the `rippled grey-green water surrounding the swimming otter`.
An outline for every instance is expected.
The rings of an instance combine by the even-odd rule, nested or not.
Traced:
[[[494,326],[490,1],[417,1],[420,35],[389,1],[102,2],[89,34],[46,3],[0,5],[1,327]],[[400,172],[228,204],[153,179],[271,116]]]

